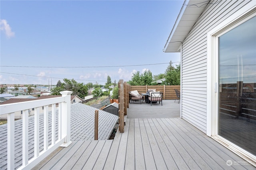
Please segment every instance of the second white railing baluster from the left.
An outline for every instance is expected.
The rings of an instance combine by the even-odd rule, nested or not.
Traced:
[[[28,164],[28,109],[22,111],[22,166]]]

